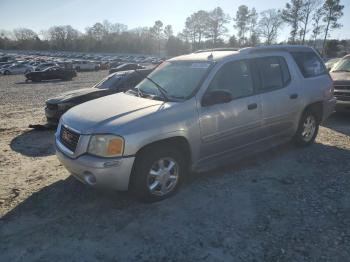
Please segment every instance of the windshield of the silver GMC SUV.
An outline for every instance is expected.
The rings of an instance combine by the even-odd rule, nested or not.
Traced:
[[[164,62],[136,88],[144,94],[162,96],[158,84],[169,99],[187,99],[209,70],[211,62]]]

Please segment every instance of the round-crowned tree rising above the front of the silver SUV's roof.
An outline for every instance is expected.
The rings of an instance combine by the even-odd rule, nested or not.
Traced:
[[[221,7],[217,7],[209,12],[207,19],[207,35],[212,39],[213,47],[218,44],[219,38],[227,33],[225,26],[229,22],[229,15],[225,14]]]

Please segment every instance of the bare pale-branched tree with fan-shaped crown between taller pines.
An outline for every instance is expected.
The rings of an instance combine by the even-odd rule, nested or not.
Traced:
[[[260,13],[259,33],[265,38],[265,44],[271,45],[276,42],[278,30],[283,24],[281,11],[268,9]]]

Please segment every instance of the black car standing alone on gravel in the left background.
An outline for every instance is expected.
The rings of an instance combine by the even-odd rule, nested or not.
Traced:
[[[41,80],[53,80],[53,79],[62,79],[62,80],[72,80],[73,77],[77,76],[75,70],[66,69],[62,67],[49,67],[43,71],[34,71],[27,73],[27,80],[32,80],[33,82],[39,82]]]

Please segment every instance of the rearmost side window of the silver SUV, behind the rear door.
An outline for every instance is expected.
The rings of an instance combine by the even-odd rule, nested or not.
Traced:
[[[292,52],[291,54],[305,78],[327,73],[322,60],[314,52]]]

